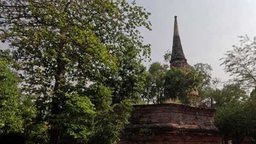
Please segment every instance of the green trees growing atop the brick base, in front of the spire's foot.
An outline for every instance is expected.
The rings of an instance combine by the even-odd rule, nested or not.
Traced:
[[[142,99],[148,103],[160,104],[178,100],[182,104],[192,104],[195,98],[190,94],[202,81],[202,76],[193,68],[190,70],[171,68],[154,62],[146,76],[146,86]]]

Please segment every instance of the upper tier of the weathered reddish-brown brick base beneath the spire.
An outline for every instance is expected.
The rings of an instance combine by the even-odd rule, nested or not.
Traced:
[[[213,109],[191,107],[178,104],[136,105],[130,122],[132,124],[195,124],[200,126],[213,125]]]

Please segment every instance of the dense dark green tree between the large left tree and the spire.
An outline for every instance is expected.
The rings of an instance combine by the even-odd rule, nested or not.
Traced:
[[[134,104],[140,98],[146,81],[146,67],[137,54],[136,47],[127,45],[125,50],[118,53],[120,59],[117,61],[117,70],[105,76],[109,77],[104,85],[112,88],[113,103],[130,99]]]

